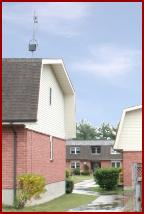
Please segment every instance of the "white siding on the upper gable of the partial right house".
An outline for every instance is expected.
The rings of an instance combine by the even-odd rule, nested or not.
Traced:
[[[141,109],[126,112],[115,148],[123,151],[142,151]]]

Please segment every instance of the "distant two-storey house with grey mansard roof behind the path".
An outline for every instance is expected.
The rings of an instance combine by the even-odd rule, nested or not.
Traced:
[[[90,170],[97,167],[122,167],[122,154],[113,150],[111,140],[68,140],[66,141],[66,167],[80,168],[84,164]]]

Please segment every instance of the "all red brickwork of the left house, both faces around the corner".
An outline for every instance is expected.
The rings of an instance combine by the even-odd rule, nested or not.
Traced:
[[[50,161],[49,136],[17,127],[17,175],[36,173],[45,176],[47,183],[64,180],[65,142],[53,138],[54,160]],[[3,127],[2,187],[13,187],[13,132]]]

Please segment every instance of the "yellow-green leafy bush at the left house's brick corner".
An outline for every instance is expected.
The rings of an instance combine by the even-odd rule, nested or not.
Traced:
[[[38,198],[45,192],[45,178],[40,175],[23,174],[17,178],[18,194],[16,208],[22,208],[32,197]]]

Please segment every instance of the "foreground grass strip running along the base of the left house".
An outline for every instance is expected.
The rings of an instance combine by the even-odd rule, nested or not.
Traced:
[[[64,212],[69,209],[87,204],[95,200],[95,196],[79,195],[79,194],[65,194],[57,199],[50,202],[25,207],[23,209],[14,209],[12,207],[3,207],[3,212]]]

